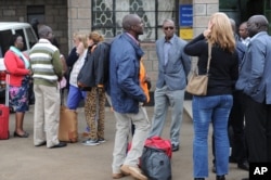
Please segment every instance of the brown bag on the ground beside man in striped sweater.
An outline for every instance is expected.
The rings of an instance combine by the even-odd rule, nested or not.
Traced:
[[[59,140],[64,142],[78,141],[78,121],[77,112],[68,110],[66,106],[61,106]]]

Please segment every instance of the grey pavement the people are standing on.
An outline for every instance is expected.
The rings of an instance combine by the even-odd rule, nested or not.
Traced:
[[[193,125],[191,102],[184,102],[184,115],[181,127],[181,145],[178,152],[173,152],[171,159],[172,180],[192,180],[192,143]],[[153,106],[147,106],[151,119]],[[0,141],[0,180],[109,180],[112,179],[112,152],[115,137],[115,118],[106,107],[105,114],[105,139],[106,142],[96,146],[85,146],[80,142],[68,143],[63,149],[35,147],[33,144],[33,115],[34,106],[25,115],[24,128],[30,133],[29,138],[13,138],[14,114],[10,115],[9,140]],[[78,108],[78,131],[83,132],[86,120],[83,108]],[[165,125],[163,138],[169,138],[170,113]],[[209,130],[211,134],[211,128]],[[210,146],[209,136],[209,146]],[[209,147],[209,177],[215,180],[216,175],[211,172],[211,152]],[[241,180],[248,176],[247,171],[241,170],[236,164],[229,164],[230,171],[227,180]],[[121,178],[132,180],[132,177]]]

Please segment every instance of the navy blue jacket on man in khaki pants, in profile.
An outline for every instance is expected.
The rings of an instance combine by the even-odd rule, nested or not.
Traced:
[[[140,59],[143,51],[127,34],[117,36],[111,46],[109,94],[114,111],[138,113],[146,97],[139,83]]]

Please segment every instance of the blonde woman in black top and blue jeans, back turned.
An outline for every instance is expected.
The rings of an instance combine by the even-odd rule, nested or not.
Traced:
[[[230,145],[228,119],[233,104],[232,92],[238,76],[238,56],[229,17],[215,13],[208,28],[184,48],[189,55],[197,56],[198,74],[206,74],[208,43],[211,46],[207,94],[193,95],[193,165],[194,179],[208,177],[208,130],[212,125],[217,180],[224,180],[229,172]]]

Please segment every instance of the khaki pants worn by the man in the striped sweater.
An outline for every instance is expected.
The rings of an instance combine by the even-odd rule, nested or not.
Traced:
[[[60,143],[60,89],[42,85],[34,85],[34,145],[47,141],[47,147]]]

